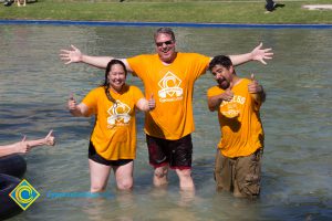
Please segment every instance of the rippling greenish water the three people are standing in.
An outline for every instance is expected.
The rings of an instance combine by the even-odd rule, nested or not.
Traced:
[[[82,198],[90,188],[87,143],[93,119],[74,118],[65,103],[81,99],[104,77],[83,64],[64,65],[60,49],[74,44],[92,55],[127,57],[151,53],[155,28],[1,25],[0,144],[37,138],[53,128],[54,148],[27,156],[25,179],[41,197],[12,220],[328,220],[332,218],[332,41],[331,30],[175,29],[178,50],[207,55],[249,52],[260,41],[273,48],[264,66],[239,66],[240,76],[256,73],[267,93],[261,115],[266,131],[262,192],[257,201],[215,191],[216,113],[209,113],[208,73],[196,83],[194,108],[194,181],[196,196],[178,189],[170,172],[166,189],[152,186],[152,168],[138,114],[137,159],[133,193],[115,190],[106,197]],[[142,83],[128,77],[128,83]],[[76,196],[55,198],[54,193]],[[53,196],[53,197],[52,197]]]

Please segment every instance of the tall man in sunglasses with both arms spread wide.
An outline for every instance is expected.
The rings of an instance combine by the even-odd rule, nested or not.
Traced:
[[[180,189],[194,190],[191,178],[193,144],[190,134],[195,129],[193,117],[193,88],[201,76],[210,57],[197,53],[176,51],[175,34],[169,28],[160,28],[154,34],[156,54],[122,59],[128,71],[138,76],[145,86],[145,96],[154,94],[156,108],[146,114],[145,133],[149,162],[154,166],[154,185],[167,183],[168,167],[176,170]],[[232,55],[235,64],[271,59],[270,49],[262,44],[250,53]],[[89,56],[79,49],[62,50],[61,59],[66,64],[83,62],[105,67],[112,56]]]

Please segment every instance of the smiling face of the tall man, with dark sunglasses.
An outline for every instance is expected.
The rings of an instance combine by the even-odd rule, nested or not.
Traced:
[[[159,33],[155,38],[156,52],[164,63],[172,63],[176,57],[175,40],[170,34]]]

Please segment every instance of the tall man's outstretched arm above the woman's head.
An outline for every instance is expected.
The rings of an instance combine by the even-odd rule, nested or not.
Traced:
[[[64,64],[71,64],[71,63],[85,63],[90,64],[92,66],[96,66],[100,69],[106,69],[107,63],[115,59],[113,56],[90,56],[86,54],[83,54],[74,45],[71,45],[69,50],[61,50],[60,59],[64,61]],[[126,59],[118,59],[121,60],[125,65],[126,69],[131,72],[129,65],[126,61]]]

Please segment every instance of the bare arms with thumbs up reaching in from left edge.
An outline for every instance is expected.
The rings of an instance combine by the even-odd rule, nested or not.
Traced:
[[[0,157],[11,155],[11,154],[27,154],[30,151],[30,149],[38,146],[44,146],[44,145],[54,146],[55,138],[52,135],[52,133],[53,130],[50,130],[49,134],[41,139],[27,140],[27,137],[24,136],[21,141],[11,145],[0,146]]]

